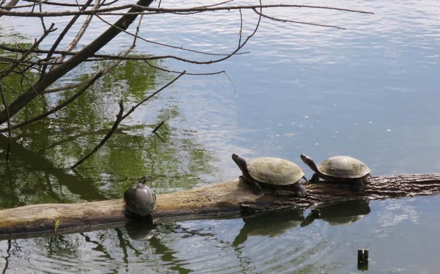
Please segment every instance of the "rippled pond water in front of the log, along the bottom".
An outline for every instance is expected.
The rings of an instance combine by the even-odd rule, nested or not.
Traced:
[[[371,209],[362,201],[323,205],[307,227],[301,224],[309,211],[283,210],[3,240],[1,263],[6,273],[350,273],[357,271],[357,249],[368,248],[373,273],[420,273],[439,266],[436,241],[422,236],[440,224],[426,210],[435,200],[373,202]],[[409,252],[414,256],[401,260]]]

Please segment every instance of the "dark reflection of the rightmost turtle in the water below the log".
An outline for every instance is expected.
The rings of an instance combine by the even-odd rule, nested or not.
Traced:
[[[321,219],[330,224],[330,226],[344,225],[354,223],[370,213],[369,203],[364,200],[352,200],[345,202],[335,202],[323,204],[315,207],[319,209],[320,215],[310,213],[301,223],[301,227],[307,227],[315,219]]]

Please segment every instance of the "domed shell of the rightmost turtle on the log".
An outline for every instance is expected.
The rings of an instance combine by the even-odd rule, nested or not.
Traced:
[[[337,178],[362,178],[371,172],[365,163],[349,156],[330,157],[316,168],[324,175]]]

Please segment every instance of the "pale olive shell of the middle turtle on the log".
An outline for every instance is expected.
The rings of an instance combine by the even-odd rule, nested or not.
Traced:
[[[252,160],[247,164],[247,170],[254,180],[277,185],[293,184],[304,176],[304,171],[296,163],[274,157]]]

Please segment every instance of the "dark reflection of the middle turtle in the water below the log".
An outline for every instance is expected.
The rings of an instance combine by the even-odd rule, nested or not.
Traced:
[[[304,220],[302,210],[277,210],[243,217],[244,225],[232,243],[235,247],[244,243],[247,236],[267,235],[274,237],[298,226]]]

